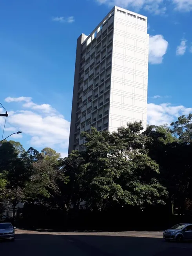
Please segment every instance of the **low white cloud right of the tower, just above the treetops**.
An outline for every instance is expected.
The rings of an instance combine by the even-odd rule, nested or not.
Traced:
[[[192,107],[183,105],[174,106],[171,103],[162,103],[160,105],[149,103],[147,105],[147,122],[150,125],[168,125],[183,114],[192,112]]]

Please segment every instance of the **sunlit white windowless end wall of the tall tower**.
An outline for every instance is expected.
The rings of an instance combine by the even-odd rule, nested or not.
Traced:
[[[109,131],[140,120],[146,129],[148,55],[147,17],[115,7]]]

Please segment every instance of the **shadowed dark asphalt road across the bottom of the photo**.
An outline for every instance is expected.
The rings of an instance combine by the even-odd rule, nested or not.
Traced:
[[[181,256],[192,243],[167,243],[162,232],[60,233],[16,231],[15,241],[1,241],[6,256]]]

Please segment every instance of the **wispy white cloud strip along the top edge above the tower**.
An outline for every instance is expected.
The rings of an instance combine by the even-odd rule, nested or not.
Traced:
[[[107,4],[110,7],[117,5],[123,8],[133,8],[135,11],[145,9],[155,15],[164,14],[167,8],[165,7],[166,1],[163,0],[96,0],[99,4]],[[192,0],[170,0],[167,1],[169,7],[176,11],[191,11]]]

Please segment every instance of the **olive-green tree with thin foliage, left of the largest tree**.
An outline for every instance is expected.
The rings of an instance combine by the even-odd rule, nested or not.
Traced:
[[[33,163],[33,174],[25,184],[27,202],[46,202],[51,207],[61,206],[60,186],[67,183],[67,177],[54,156],[52,158],[49,155]]]

